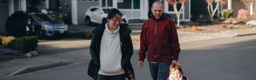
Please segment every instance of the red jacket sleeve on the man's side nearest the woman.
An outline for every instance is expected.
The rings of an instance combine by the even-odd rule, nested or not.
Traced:
[[[146,39],[147,29],[146,29],[145,23],[141,29],[141,37],[140,37],[140,43],[141,43],[140,46],[141,47],[138,52],[138,56],[139,56],[138,61],[144,61],[144,59],[146,58],[146,51],[148,51],[148,41]]]

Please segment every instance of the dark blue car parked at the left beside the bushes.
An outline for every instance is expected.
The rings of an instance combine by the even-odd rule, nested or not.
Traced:
[[[5,26],[10,36],[25,34],[34,35],[37,39],[43,39],[45,36],[57,36],[62,39],[68,33],[68,25],[40,12],[16,11],[6,19]]]

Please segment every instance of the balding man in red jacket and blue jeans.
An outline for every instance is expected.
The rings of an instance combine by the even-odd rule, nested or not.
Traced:
[[[163,4],[154,1],[151,19],[145,21],[141,29],[141,48],[138,53],[138,66],[142,68],[146,52],[149,68],[154,80],[166,80],[169,66],[178,61],[180,44],[175,22],[163,15]]]

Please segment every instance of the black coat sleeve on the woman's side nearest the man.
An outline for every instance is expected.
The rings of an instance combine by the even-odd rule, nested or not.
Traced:
[[[128,49],[126,51],[125,57],[121,61],[122,68],[125,68],[128,66],[131,60],[131,56],[133,56],[133,43],[131,41],[131,36],[128,35],[125,39],[128,39]]]

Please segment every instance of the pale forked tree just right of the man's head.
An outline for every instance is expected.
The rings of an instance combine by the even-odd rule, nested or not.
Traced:
[[[183,8],[185,2],[188,0],[166,0],[166,1],[168,1],[169,5],[173,6],[173,9],[175,9],[175,13],[177,16],[177,26],[180,26],[180,12],[182,11],[182,8]],[[179,13],[177,13],[176,3],[182,4],[182,6],[180,7]]]

